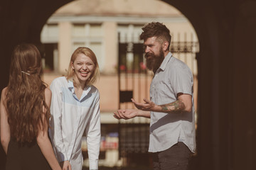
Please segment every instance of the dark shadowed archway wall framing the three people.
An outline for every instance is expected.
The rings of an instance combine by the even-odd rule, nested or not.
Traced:
[[[164,0],[198,35],[198,155],[194,169],[253,169],[256,115],[255,0]],[[11,50],[40,45],[44,23],[70,0],[0,1],[0,89],[8,83]],[[4,160],[1,151],[1,166]],[[0,167],[1,168],[1,167]]]

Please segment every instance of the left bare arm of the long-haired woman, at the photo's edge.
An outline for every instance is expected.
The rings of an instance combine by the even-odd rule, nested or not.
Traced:
[[[4,88],[1,92],[1,104],[0,104],[0,113],[1,113],[1,145],[4,148],[4,152],[7,154],[7,148],[11,139],[11,132],[10,127],[8,123],[8,116],[6,112],[6,90],[7,88]]]

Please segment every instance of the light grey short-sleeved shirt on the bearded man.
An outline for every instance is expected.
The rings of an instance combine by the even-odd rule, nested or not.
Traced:
[[[150,98],[161,105],[177,101],[178,93],[190,94],[193,98],[193,74],[185,63],[169,52],[151,81]],[[183,142],[195,152],[193,99],[191,113],[151,112],[149,132],[149,152],[163,151],[177,142]]]

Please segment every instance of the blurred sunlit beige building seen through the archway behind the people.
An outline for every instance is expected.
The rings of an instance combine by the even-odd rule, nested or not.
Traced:
[[[137,162],[137,157],[134,157],[134,155],[140,155],[143,152],[142,150],[138,152],[133,149],[131,152],[122,155],[122,150],[119,149],[121,131],[118,131],[117,128],[123,122],[114,120],[112,113],[119,106],[131,106],[131,103],[119,105],[118,89],[120,88],[125,88],[125,91],[132,89],[133,96],[137,97],[138,101],[142,101],[142,98],[137,96],[139,89],[134,91],[132,84],[129,84],[129,82],[132,82],[131,79],[127,79],[127,84],[121,85],[121,87],[118,86],[118,69],[123,67],[123,64],[119,65],[118,61],[118,45],[120,43],[142,43],[138,38],[141,28],[151,21],[166,24],[172,35],[171,52],[174,57],[186,62],[188,67],[191,68],[194,76],[194,101],[197,111],[198,70],[196,53],[199,52],[198,38],[191,23],[174,6],[156,0],[139,2],[136,0],[73,1],[55,11],[43,27],[41,33],[41,42],[45,54],[43,56],[43,79],[47,84],[50,84],[56,77],[65,74],[70,56],[76,47],[90,47],[97,56],[101,77],[95,86],[101,94],[100,106],[102,127],[104,128],[102,129],[103,147],[100,155],[102,166],[127,166],[129,163],[140,166],[140,163],[149,162],[149,160]],[[120,36],[118,37],[118,35]],[[124,65],[125,67],[129,67],[129,63],[131,65],[137,60],[136,55],[130,53],[127,52],[124,55],[123,59],[125,63],[128,63],[128,65]],[[132,67],[130,71],[135,72]],[[146,76],[149,79],[146,79],[146,85],[143,85],[146,86],[146,88],[143,87],[146,90],[144,92],[140,91],[140,93],[143,93],[142,97],[149,96],[150,77],[152,75],[149,73]],[[110,96],[112,96],[111,100]],[[123,128],[123,132],[127,132],[128,135],[129,132],[137,132],[138,130],[146,133],[147,131],[144,128],[138,127],[140,127],[139,124],[148,125],[149,120],[138,119],[129,123],[132,123],[134,128]],[[136,145],[136,142],[134,145]],[[139,145],[139,147],[145,146]],[[83,145],[83,147],[86,152],[86,145]],[[129,147],[129,143],[127,143],[127,147]],[[143,153],[146,153],[146,149]],[[145,156],[146,154],[141,155]],[[85,154],[85,166],[88,166],[86,158],[87,155]]]

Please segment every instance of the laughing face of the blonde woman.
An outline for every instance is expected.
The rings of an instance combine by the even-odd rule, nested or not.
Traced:
[[[95,72],[95,64],[92,62],[90,57],[79,53],[72,62],[72,69],[74,70],[74,79],[77,79],[80,84],[86,84],[86,81],[89,80]]]

